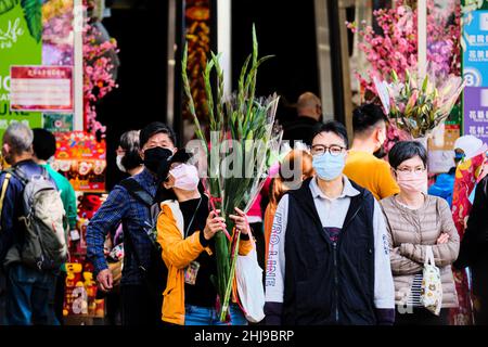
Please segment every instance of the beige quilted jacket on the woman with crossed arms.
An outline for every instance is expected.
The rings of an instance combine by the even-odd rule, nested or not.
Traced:
[[[427,195],[424,206],[411,210],[395,196],[381,201],[389,242],[395,301],[406,305],[413,278],[423,270],[426,245],[432,245],[436,266],[442,281],[442,308],[457,307],[458,294],[451,265],[458,258],[460,239],[448,203]],[[449,234],[446,244],[436,244],[441,233]]]

